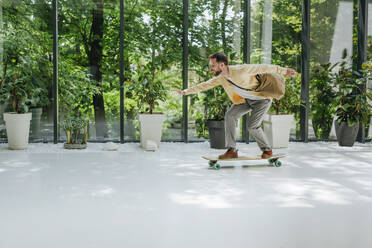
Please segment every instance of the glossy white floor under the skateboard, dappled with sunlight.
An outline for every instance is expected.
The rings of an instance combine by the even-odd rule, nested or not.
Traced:
[[[88,146],[0,145],[1,248],[372,247],[371,143],[290,143],[282,167],[219,171],[208,143]]]

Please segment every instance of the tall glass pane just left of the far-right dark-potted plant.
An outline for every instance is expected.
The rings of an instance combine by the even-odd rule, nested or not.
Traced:
[[[338,67],[331,66],[343,61],[345,52],[345,61],[352,65],[353,18],[357,15],[357,8],[353,7],[353,1],[311,2],[309,139],[336,139],[331,73],[337,72]]]

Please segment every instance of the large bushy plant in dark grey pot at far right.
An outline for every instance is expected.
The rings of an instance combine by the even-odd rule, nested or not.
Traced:
[[[346,54],[343,58],[346,58]],[[335,81],[337,96],[334,102],[336,136],[340,146],[353,146],[359,123],[368,122],[371,105],[367,99],[372,99],[371,93],[366,89],[368,77],[370,76],[365,70],[361,73],[353,71],[346,61],[340,64]]]

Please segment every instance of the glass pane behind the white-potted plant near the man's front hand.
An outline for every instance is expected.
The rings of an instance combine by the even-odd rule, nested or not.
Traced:
[[[125,139],[139,140],[139,113],[163,113],[162,140],[181,140],[182,1],[125,6]]]

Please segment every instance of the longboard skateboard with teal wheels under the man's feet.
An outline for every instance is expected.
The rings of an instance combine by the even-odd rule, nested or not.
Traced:
[[[271,166],[274,167],[280,167],[282,165],[282,162],[279,161],[279,158],[286,157],[286,154],[279,153],[279,154],[273,154],[270,158],[261,158],[261,155],[250,155],[250,156],[239,156],[237,158],[227,158],[227,159],[219,159],[216,157],[205,157],[202,156],[202,158],[209,160],[209,168],[219,170],[221,169],[221,165],[218,163],[218,161],[245,161],[245,160],[263,160],[267,159],[269,160],[269,163]]]

